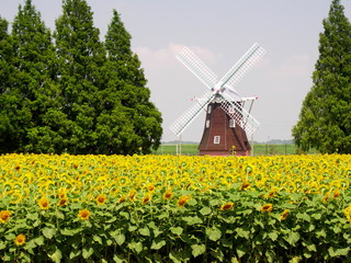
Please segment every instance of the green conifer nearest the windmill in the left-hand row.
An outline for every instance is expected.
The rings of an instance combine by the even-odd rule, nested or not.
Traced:
[[[121,98],[122,111],[128,122],[122,129],[122,153],[157,149],[162,135],[161,114],[150,102],[150,90],[140,68],[138,56],[131,49],[131,34],[125,30],[116,10],[105,36],[109,89]]]

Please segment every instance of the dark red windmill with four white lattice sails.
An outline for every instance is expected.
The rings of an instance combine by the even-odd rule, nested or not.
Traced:
[[[184,112],[170,129],[180,137],[201,112],[206,110],[204,133],[199,145],[200,155],[228,156],[233,149],[238,156],[248,155],[251,150],[248,137],[260,125],[250,114],[258,98],[242,98],[234,87],[264,53],[261,46],[253,44],[234,67],[217,80],[216,75],[193,52],[184,47],[177,55],[178,60],[208,90],[195,100],[193,106]],[[246,102],[251,102],[249,112],[245,110]]]

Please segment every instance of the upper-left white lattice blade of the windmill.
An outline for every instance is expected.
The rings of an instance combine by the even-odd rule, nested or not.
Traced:
[[[217,82],[217,76],[186,46],[176,56],[208,89]]]

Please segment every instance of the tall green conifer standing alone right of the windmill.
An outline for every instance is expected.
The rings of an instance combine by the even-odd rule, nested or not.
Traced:
[[[340,0],[332,0],[322,24],[314,85],[293,137],[303,150],[351,153],[351,25]]]

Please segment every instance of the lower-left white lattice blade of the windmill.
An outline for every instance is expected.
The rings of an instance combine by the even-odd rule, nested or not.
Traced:
[[[183,115],[181,115],[171,126],[170,129],[180,136],[185,128],[197,117],[202,110],[211,102],[215,94],[207,91],[196,103],[191,106]]]

